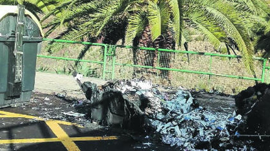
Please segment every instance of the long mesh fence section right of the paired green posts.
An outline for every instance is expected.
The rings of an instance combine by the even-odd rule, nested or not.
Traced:
[[[260,81],[264,60],[254,59],[254,76],[245,69],[241,57],[229,56],[233,55],[117,48],[115,79],[144,77],[164,86],[226,94],[237,94]],[[268,75],[266,69],[265,82],[270,80]]]

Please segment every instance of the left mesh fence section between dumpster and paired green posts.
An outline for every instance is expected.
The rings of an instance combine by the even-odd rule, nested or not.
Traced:
[[[88,77],[101,77],[103,67],[102,46],[74,43],[43,42],[42,53],[37,58],[37,71],[58,74],[80,72]]]

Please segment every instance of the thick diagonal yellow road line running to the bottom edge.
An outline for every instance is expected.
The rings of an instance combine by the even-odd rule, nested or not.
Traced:
[[[79,151],[79,147],[69,138],[67,133],[52,120],[47,120],[46,124],[51,128],[52,132],[61,139],[62,144],[70,151]]]

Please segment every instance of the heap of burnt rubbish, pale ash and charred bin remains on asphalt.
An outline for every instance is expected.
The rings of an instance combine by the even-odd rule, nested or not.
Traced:
[[[100,87],[84,82],[81,87],[91,101],[91,119],[100,124],[144,131],[181,149],[251,149],[248,147],[250,141],[240,137],[250,132],[247,131],[251,128],[247,128],[251,122],[249,118],[257,118],[257,112],[270,115],[270,110],[264,106],[269,106],[264,98],[269,97],[270,92],[268,87],[263,91],[262,86],[248,88],[247,92],[237,95],[238,110],[231,114],[207,110],[199,106],[190,92],[153,85],[147,80],[114,81]],[[255,95],[257,100],[253,100]],[[265,108],[265,111],[257,108]],[[266,115],[261,116],[266,118]],[[239,130],[239,123],[246,125]]]

